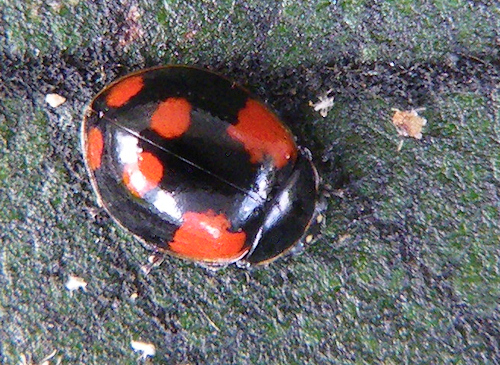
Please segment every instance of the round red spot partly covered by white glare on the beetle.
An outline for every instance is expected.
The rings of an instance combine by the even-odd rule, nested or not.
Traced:
[[[142,152],[137,162],[125,165],[123,168],[123,183],[137,197],[142,197],[148,191],[158,186],[163,178],[163,165],[150,152]]]

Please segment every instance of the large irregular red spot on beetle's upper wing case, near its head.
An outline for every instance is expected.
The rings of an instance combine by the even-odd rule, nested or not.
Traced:
[[[292,134],[276,115],[253,99],[248,99],[238,113],[238,122],[230,125],[227,133],[243,144],[252,163],[262,162],[270,156],[274,165],[282,168],[297,156]]]

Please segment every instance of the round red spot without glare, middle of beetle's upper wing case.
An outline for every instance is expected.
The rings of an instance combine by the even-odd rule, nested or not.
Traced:
[[[184,98],[162,101],[151,117],[151,128],[163,138],[177,138],[189,129],[191,104]]]

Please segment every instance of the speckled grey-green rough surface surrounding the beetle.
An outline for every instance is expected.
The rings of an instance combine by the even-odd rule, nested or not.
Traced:
[[[0,363],[135,364],[131,341],[151,364],[499,363],[499,9],[0,0]],[[302,255],[141,272],[79,127],[104,85],[169,63],[246,85],[311,149],[329,207]],[[393,108],[425,108],[422,139],[400,146]]]

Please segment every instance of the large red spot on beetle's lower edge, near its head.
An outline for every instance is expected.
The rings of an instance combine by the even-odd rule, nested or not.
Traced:
[[[205,213],[186,212],[175,232],[170,249],[181,256],[203,261],[236,260],[247,251],[246,234],[231,232],[225,215],[213,210]]]

